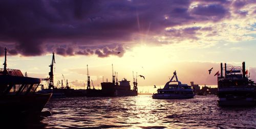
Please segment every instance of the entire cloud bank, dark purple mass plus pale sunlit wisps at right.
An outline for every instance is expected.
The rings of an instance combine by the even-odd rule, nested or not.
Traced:
[[[252,0],[4,0],[0,43],[11,55],[56,51],[62,56],[104,58],[122,57],[126,47],[141,40],[151,44],[251,40],[255,39],[255,8]]]

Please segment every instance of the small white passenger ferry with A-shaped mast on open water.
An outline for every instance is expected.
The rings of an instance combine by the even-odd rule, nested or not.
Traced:
[[[174,78],[176,80],[174,80]],[[182,84],[177,77],[176,71],[169,82],[167,82],[163,89],[157,89],[157,93],[152,95],[154,99],[174,99],[174,98],[193,98],[195,95],[191,86]]]

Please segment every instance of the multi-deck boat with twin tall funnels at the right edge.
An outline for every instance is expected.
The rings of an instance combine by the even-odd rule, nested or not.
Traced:
[[[248,79],[245,62],[241,66],[224,66],[221,63],[221,74],[218,76],[219,106],[253,106],[255,105],[255,88]]]

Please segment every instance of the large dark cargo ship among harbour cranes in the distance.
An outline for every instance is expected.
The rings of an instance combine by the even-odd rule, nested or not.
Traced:
[[[117,73],[114,74],[113,64],[112,64],[112,82],[102,82],[101,90],[90,89],[90,86],[87,88],[87,96],[88,97],[97,97],[97,96],[137,96],[138,88],[137,88],[137,75],[136,79],[134,78],[133,89],[131,89],[130,81],[123,78],[121,81],[117,79]],[[90,80],[90,79],[88,79]],[[88,83],[90,84],[90,83]]]

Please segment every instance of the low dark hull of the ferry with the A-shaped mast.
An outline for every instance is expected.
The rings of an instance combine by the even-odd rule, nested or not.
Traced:
[[[184,98],[193,98],[194,94],[153,94],[152,98],[154,99],[184,99]]]

